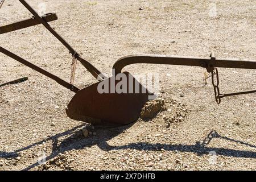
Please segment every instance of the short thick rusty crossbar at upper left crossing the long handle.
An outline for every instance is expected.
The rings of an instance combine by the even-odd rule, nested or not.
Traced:
[[[54,20],[57,20],[57,15],[53,13],[48,13],[46,15],[43,15],[42,18],[46,22],[52,22]],[[15,31],[15,30],[20,30],[22,28],[27,28],[31,26],[35,26],[37,24],[41,24],[37,19],[35,19],[35,16],[33,16],[30,19],[22,20],[20,22],[15,22],[12,24],[7,24],[6,26],[0,27],[0,34],[5,34],[7,32]]]

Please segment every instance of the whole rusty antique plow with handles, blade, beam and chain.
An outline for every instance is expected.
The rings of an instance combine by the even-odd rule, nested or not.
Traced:
[[[4,0],[0,0],[0,8],[3,5],[3,2]],[[65,81],[1,46],[0,52],[19,63],[42,73],[44,76],[55,80],[58,84],[72,92],[75,92],[75,96],[66,108],[66,113],[71,119],[92,123],[96,126],[108,127],[128,125],[129,123],[135,122],[139,118],[142,107],[149,100],[149,96],[154,96],[154,93],[151,93],[147,88],[144,88],[144,86],[129,72],[123,72],[123,68],[131,64],[166,64],[205,68],[207,69],[207,72],[211,74],[210,77],[212,78],[214,97],[217,104],[220,104],[221,99],[224,97],[256,93],[256,90],[236,93],[221,93],[219,88],[220,81],[218,68],[256,69],[256,61],[243,59],[221,59],[217,58],[214,55],[214,52],[212,52],[209,57],[129,55],[117,60],[113,65],[112,77],[106,77],[102,72],[94,67],[94,65],[89,63],[89,61],[83,59],[81,55],[49,25],[48,22],[57,20],[56,14],[49,13],[40,16],[26,1],[19,0],[19,2],[22,3],[28,11],[30,11],[33,15],[32,18],[7,24],[5,26],[1,25],[0,34],[7,34],[22,28],[42,24],[68,49],[69,53],[71,53],[71,79],[69,82]],[[86,70],[98,80],[96,84],[82,89],[74,85],[77,61],[80,61]],[[112,92],[113,88],[121,85],[121,77],[129,77],[129,82],[125,85],[122,84],[122,92]],[[99,88],[102,85],[110,85],[108,88],[104,88],[107,92],[99,92]]]

